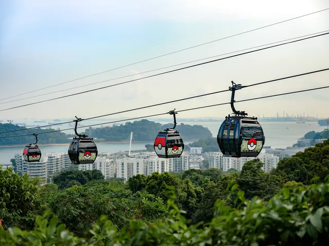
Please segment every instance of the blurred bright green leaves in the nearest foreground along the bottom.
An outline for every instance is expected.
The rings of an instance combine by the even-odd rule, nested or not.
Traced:
[[[218,200],[214,217],[207,227],[187,226],[185,218],[174,204],[165,219],[145,224],[129,221],[130,231],[118,231],[111,220],[102,216],[89,230],[92,237],[76,237],[58,225],[56,216],[47,212],[35,220],[33,231],[0,227],[2,245],[327,245],[329,243],[329,177],[324,183],[304,192],[290,193],[288,188],[269,201],[258,197],[246,200],[238,192],[240,209]],[[229,194],[239,190],[230,183]],[[70,188],[71,189],[71,188]],[[226,189],[225,189],[226,190]]]

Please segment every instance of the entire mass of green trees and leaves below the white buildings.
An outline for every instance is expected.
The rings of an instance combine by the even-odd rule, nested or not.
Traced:
[[[327,245],[329,140],[241,172],[218,169],[55,183],[0,166],[1,245]]]

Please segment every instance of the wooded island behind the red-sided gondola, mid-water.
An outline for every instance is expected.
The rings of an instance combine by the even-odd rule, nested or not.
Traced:
[[[160,123],[142,119],[134,122],[126,122],[125,125],[120,126],[95,128],[93,130],[93,137],[106,141],[122,141],[129,137],[131,132],[134,132],[134,139],[137,141],[154,141],[160,131],[169,127],[173,127],[173,124],[161,125]],[[181,123],[175,129],[179,131],[179,134],[185,140],[212,136],[208,128],[199,125],[190,126]]]

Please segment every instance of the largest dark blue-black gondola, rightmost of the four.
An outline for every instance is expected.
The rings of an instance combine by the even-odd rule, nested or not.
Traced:
[[[225,117],[217,135],[217,143],[224,156],[256,157],[263,149],[265,136],[257,117],[247,117],[245,111],[234,108],[235,90],[243,87],[232,81],[231,108],[234,114]]]

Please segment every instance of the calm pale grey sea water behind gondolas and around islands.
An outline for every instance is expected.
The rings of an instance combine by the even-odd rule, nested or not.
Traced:
[[[161,124],[170,123],[171,121],[164,122]],[[305,124],[296,124],[296,122],[260,122],[264,134],[266,136],[265,146],[271,146],[272,148],[285,148],[292,146],[297,142],[297,139],[304,136],[309,131],[320,132],[326,127],[320,127],[318,122],[305,122]],[[179,124],[179,123],[178,123]],[[213,136],[218,133],[218,128],[221,122],[194,122],[185,121],[184,124],[188,125],[202,125],[207,127]],[[96,141],[97,143],[97,141]],[[186,144],[189,144],[186,142]],[[153,144],[153,142],[133,142],[132,150],[145,149],[145,144]],[[40,146],[43,153],[51,152],[67,152],[68,145],[56,145],[56,146]],[[99,152],[118,152],[129,150],[129,143],[118,143],[118,144],[97,144]],[[15,153],[22,153],[24,147],[0,147],[0,163],[9,164],[10,159],[13,158]]]

